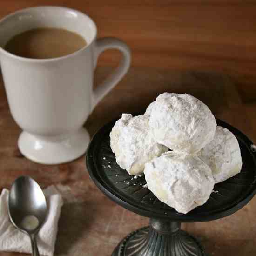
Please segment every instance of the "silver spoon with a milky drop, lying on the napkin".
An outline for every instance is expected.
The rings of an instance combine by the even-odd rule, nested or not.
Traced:
[[[47,216],[47,203],[40,186],[28,176],[20,176],[11,187],[8,214],[14,227],[30,237],[32,255],[39,256],[36,236]]]

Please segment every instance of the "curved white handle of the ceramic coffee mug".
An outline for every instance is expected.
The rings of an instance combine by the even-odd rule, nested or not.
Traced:
[[[97,65],[97,59],[99,55],[107,49],[117,49],[122,53],[122,59],[119,66],[115,68],[112,74],[110,74],[97,88],[93,91],[93,104],[92,111],[101,99],[108,94],[108,92],[122,79],[127,73],[131,64],[131,51],[126,43],[117,38],[100,38],[95,42],[94,48],[94,68]]]

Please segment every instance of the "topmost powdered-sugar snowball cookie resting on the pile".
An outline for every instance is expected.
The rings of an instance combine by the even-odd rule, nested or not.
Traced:
[[[189,94],[160,94],[149,107],[149,126],[155,139],[168,148],[195,153],[214,137],[214,115]]]

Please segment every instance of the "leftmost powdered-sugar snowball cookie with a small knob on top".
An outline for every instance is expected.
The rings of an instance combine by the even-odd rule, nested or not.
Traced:
[[[143,173],[145,163],[168,148],[155,142],[148,127],[148,115],[122,114],[110,133],[110,146],[116,162],[130,175]]]

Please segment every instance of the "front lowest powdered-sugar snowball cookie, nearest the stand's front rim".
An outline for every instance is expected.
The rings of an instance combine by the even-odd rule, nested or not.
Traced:
[[[209,166],[182,152],[169,151],[148,162],[144,175],[148,189],[180,213],[204,204],[214,186]]]

